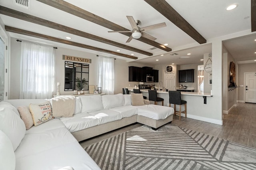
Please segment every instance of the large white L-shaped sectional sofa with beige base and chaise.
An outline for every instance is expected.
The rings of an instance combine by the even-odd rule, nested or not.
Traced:
[[[136,122],[159,128],[171,122],[174,113],[171,107],[133,106],[131,95],[80,96],[75,99],[73,117],[55,117],[26,130],[17,108],[45,101],[49,100],[0,102],[0,169],[58,170],[68,166],[97,170],[100,168],[78,141]]]

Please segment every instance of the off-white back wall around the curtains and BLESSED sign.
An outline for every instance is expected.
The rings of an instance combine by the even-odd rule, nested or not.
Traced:
[[[20,55],[21,55],[21,43],[17,42],[15,38],[11,38],[11,57],[10,57],[10,94],[9,99],[20,98]],[[84,51],[72,50],[67,48],[58,47],[56,49],[56,60],[55,60],[55,74],[56,82],[60,82],[60,94],[72,94],[71,91],[64,91],[64,80],[65,80],[65,60],[62,59],[62,55],[71,55],[75,57],[82,57],[92,59],[92,63],[89,63],[89,85],[98,84],[98,57],[96,54],[87,53]],[[126,62],[126,60],[116,59],[115,60],[115,89],[114,93],[122,93],[124,87],[134,87],[138,82],[129,82],[129,66],[136,67],[154,67],[152,65],[145,65],[136,62]],[[155,69],[155,68],[154,68]],[[158,84],[158,83],[145,83],[145,84]],[[57,91],[57,86],[54,90],[54,95]],[[89,93],[89,91],[84,91]]]

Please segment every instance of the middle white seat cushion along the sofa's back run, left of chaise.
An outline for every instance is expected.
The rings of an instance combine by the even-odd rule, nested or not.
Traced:
[[[122,115],[119,112],[110,109],[90,112],[89,114],[95,116],[100,121],[99,125],[122,119]]]

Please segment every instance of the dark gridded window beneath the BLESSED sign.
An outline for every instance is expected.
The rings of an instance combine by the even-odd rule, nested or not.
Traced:
[[[89,64],[65,61],[65,91],[89,89]]]

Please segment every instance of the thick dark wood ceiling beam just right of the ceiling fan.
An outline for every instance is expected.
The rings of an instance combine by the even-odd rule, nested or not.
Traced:
[[[155,10],[160,12],[178,28],[186,32],[190,37],[198,43],[206,43],[206,40],[201,36],[180,14],[172,8],[165,0],[144,0]]]

